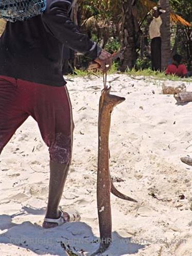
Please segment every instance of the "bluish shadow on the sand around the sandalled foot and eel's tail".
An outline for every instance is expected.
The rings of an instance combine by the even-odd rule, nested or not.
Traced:
[[[67,256],[61,244],[69,245],[76,251],[83,250],[88,255],[99,247],[99,239],[94,236],[90,226],[83,222],[66,223],[53,229],[43,229],[37,224],[23,222],[15,224],[14,217],[18,215],[44,214],[45,209],[24,207],[20,213],[0,215],[0,243],[16,245],[29,249],[36,254]],[[137,253],[143,245],[131,243],[130,237],[122,237],[117,232],[112,233],[112,244],[103,256],[121,256],[124,254]],[[85,253],[85,255],[87,255]],[[78,255],[78,254],[77,254]],[[81,253],[79,255],[82,255]]]

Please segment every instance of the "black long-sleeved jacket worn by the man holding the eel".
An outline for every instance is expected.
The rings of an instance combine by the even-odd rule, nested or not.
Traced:
[[[66,84],[63,45],[91,60],[101,48],[71,22],[72,0],[47,0],[46,11],[25,22],[8,22],[0,39],[0,76],[52,86]]]

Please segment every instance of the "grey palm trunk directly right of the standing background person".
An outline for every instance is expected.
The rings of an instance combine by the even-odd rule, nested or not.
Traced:
[[[161,15],[161,68],[164,70],[170,60],[170,5],[169,0],[160,0],[160,5],[166,13]]]

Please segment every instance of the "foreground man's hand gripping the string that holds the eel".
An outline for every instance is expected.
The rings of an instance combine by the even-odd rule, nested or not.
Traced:
[[[112,54],[102,49],[100,56],[94,62],[100,65],[99,70],[106,73],[112,66]]]

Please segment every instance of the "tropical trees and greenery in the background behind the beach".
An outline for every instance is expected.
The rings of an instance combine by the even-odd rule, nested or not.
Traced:
[[[117,61],[121,71],[150,67],[148,36],[151,9],[160,5],[162,14],[162,67],[172,54],[180,53],[192,68],[192,5],[188,0],[74,0],[72,19],[110,52],[124,49]],[[78,57],[80,58],[80,57]],[[78,62],[76,62],[78,63]]]

